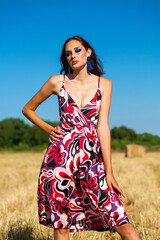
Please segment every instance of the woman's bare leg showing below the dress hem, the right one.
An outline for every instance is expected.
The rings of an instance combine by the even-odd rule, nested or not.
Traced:
[[[123,240],[141,240],[130,223],[113,227]]]

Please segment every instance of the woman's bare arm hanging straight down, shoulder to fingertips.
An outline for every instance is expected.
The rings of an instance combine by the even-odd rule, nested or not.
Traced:
[[[124,195],[123,191],[120,189],[116,179],[113,176],[112,162],[111,162],[111,133],[109,128],[109,110],[111,105],[111,96],[112,96],[112,81],[107,78],[101,78],[102,86],[102,98],[101,105],[99,110],[99,119],[97,126],[97,135],[100,141],[104,167],[106,170],[106,179],[110,191],[113,191],[113,188],[117,189],[119,195]]]

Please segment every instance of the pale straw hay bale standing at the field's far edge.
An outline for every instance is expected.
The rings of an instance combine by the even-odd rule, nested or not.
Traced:
[[[146,148],[138,144],[126,144],[125,146],[125,157],[143,157],[145,152]]]

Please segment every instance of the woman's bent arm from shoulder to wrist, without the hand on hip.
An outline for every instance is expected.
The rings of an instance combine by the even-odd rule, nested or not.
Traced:
[[[41,128],[46,133],[50,134],[54,129],[53,126],[44,122],[36,113],[37,107],[44,102],[52,94],[59,92],[62,83],[61,75],[51,76],[41,87],[41,89],[30,99],[30,101],[23,107],[22,113],[37,127]]]

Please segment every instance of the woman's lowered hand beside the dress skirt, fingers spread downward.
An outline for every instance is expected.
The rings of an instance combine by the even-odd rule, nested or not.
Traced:
[[[106,174],[106,180],[107,180],[107,184],[108,187],[110,189],[110,191],[114,191],[114,189],[116,189],[118,191],[118,196],[120,198],[120,196],[122,195],[123,197],[126,197],[125,194],[123,193],[122,189],[119,187],[116,179],[114,178],[112,173],[107,173]]]

